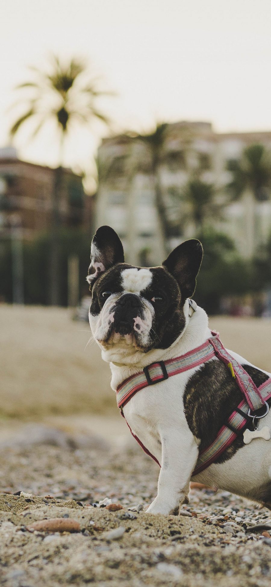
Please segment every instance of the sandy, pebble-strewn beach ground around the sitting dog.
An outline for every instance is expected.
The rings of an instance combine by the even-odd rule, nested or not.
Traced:
[[[87,323],[65,309],[4,305],[0,320],[2,585],[270,585],[265,508],[210,488],[192,489],[178,517],[145,513],[159,468],[118,413]],[[270,321],[211,326],[270,369]]]

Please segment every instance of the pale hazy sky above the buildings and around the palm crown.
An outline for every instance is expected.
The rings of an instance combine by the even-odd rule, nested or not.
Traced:
[[[270,0],[9,0],[1,10],[0,146],[12,122],[13,87],[49,53],[79,56],[115,97],[100,104],[113,131],[205,120],[216,131],[271,129]],[[101,125],[75,129],[65,164],[92,168]],[[26,160],[55,165],[57,136],[15,141]]]

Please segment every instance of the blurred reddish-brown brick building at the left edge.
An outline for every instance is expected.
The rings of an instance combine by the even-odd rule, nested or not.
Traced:
[[[21,225],[24,239],[50,230],[56,181],[56,169],[19,160],[12,147],[0,149],[0,235],[9,235],[13,224]],[[82,177],[63,168],[59,186],[60,224],[90,230],[93,198],[84,194]]]

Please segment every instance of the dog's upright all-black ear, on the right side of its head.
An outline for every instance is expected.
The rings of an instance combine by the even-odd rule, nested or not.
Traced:
[[[185,299],[194,294],[202,255],[201,242],[191,238],[176,247],[162,264],[175,277]]]

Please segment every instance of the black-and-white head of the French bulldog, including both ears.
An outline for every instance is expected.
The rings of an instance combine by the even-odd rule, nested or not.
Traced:
[[[202,246],[192,239],[161,267],[127,265],[116,232],[99,228],[87,276],[90,327],[99,345],[124,353],[168,348],[185,328],[184,303],[194,292],[201,259]]]

